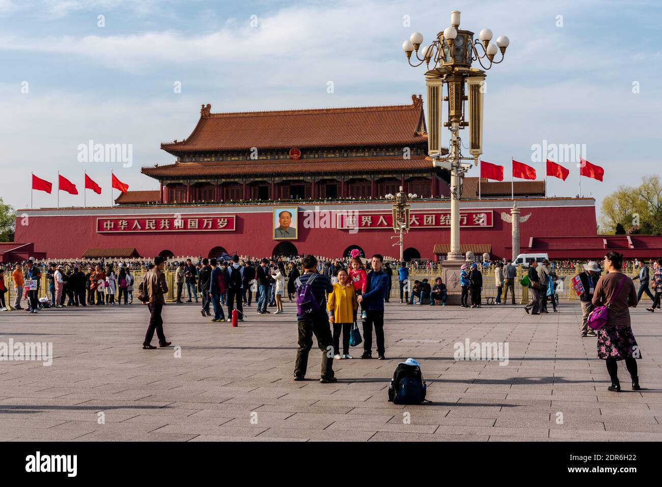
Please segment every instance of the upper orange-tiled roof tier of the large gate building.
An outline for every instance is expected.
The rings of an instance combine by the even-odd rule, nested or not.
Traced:
[[[187,152],[416,144],[428,140],[420,95],[411,105],[265,112],[212,113],[185,140],[165,142],[170,154]]]

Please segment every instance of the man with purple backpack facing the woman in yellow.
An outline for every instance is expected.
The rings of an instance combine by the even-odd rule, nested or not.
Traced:
[[[299,349],[295,361],[294,380],[304,380],[308,367],[308,353],[312,348],[312,335],[322,351],[320,382],[336,382],[333,372],[333,337],[326,316],[326,293],[333,292],[326,275],[317,273],[317,259],[307,255],[302,262],[303,275],[295,282],[297,295],[297,322],[299,324]]]

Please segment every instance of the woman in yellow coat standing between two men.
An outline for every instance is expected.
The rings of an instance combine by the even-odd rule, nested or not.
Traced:
[[[326,310],[329,322],[333,324],[333,343],[336,356],[334,359],[352,359],[350,355],[350,332],[354,324],[354,316],[359,308],[356,300],[354,286],[349,280],[347,271],[338,271],[338,282],[333,285],[333,292],[329,294]],[[342,353],[340,355],[340,332],[342,331]]]

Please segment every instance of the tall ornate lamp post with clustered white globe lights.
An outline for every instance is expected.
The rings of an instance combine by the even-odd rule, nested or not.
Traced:
[[[479,33],[480,41],[473,38],[473,32],[458,30],[460,13],[451,12],[451,26],[437,34],[429,46],[420,47],[422,34],[414,32],[409,40],[404,41],[402,50],[406,53],[410,66],[425,63],[428,71],[426,91],[428,95],[428,155],[436,167],[443,167],[451,173],[451,236],[448,259],[444,261],[444,281],[448,290],[449,303],[459,304],[461,285],[460,267],[465,259],[460,251],[459,240],[459,196],[460,175],[473,165],[478,165],[483,154],[483,95],[485,94],[485,71],[471,67],[477,61],[487,70],[503,61],[509,40],[506,36],[496,39],[491,44],[492,31],[485,28]],[[500,50],[501,58],[495,61]],[[412,64],[412,53],[416,52],[418,63]],[[416,61],[414,61],[416,62]],[[485,64],[483,64],[485,63]],[[432,64],[432,67],[430,67]],[[448,95],[443,96],[444,85]],[[448,122],[443,126],[451,132],[449,154],[441,154],[442,103],[448,101]],[[468,101],[465,111],[464,102]],[[465,120],[465,114],[468,119]],[[469,127],[469,155],[463,157],[459,131]]]

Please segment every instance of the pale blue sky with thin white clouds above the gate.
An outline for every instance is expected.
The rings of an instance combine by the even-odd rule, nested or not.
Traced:
[[[424,93],[424,69],[406,64],[402,41],[418,31],[427,44],[453,9],[461,28],[510,38],[488,71],[484,160],[508,173],[511,155],[531,163],[544,140],[586,144],[605,169],[604,183],[582,181],[598,205],[660,173],[659,2],[0,0],[0,196],[29,206],[30,171],[56,181],[59,170],[81,190],[87,170],[104,190],[88,191],[89,205],[109,203],[111,169],[130,189],[156,189],[140,167],[173,161],[160,142],[187,137],[203,103],[213,112],[410,103]],[[79,162],[88,140],[132,144],[132,167]],[[549,181],[548,195],[577,194],[571,171]],[[34,192],[34,206],[55,202]],[[81,203],[60,195],[61,206]]]

